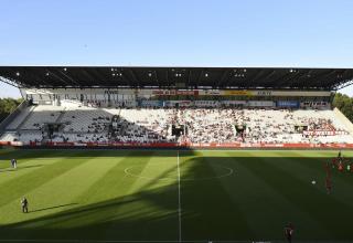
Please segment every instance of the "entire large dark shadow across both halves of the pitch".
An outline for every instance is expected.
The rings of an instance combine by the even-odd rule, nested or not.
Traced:
[[[189,151],[181,152],[180,160],[180,194],[176,179],[160,182],[176,173],[175,162],[159,177],[139,178],[148,183],[133,194],[2,225],[0,237],[178,241],[180,196],[185,241],[278,240],[284,237],[282,226],[288,221],[295,223],[296,236],[301,240],[353,239],[353,205],[349,198],[347,202],[339,199],[344,191],[327,196],[309,181],[312,177],[324,179],[322,163],[327,158],[197,157]],[[235,172],[217,178],[220,165]],[[352,182],[334,177],[342,187]],[[65,205],[54,208],[60,207]],[[49,209],[53,207],[38,211]]]

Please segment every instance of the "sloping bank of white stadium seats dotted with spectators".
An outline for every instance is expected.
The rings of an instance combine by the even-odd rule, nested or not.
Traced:
[[[113,116],[119,117],[115,133],[110,130]],[[44,125],[53,123],[63,127],[45,138]],[[172,125],[183,125],[185,135],[172,136]],[[236,125],[244,126],[244,134],[237,133]],[[330,109],[97,108],[67,103],[25,108],[7,129],[0,138],[2,141],[353,142],[353,136]]]

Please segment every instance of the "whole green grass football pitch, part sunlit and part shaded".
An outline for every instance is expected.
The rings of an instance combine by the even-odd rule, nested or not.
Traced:
[[[353,240],[353,173],[324,188],[336,155],[2,149],[0,240],[282,241],[288,222],[295,240]]]

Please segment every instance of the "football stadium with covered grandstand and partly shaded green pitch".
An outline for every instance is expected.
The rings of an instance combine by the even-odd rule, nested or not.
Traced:
[[[351,68],[0,66],[0,242],[351,242]],[[287,236],[287,239],[286,239]],[[290,237],[290,239],[289,239]]]

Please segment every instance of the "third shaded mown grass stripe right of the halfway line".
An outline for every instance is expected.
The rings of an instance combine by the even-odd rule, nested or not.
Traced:
[[[334,220],[329,219],[335,219],[336,215],[340,215],[340,219],[336,220],[349,222],[349,219],[352,219],[350,208],[339,203],[333,198],[327,197],[315,188],[310,187],[310,184],[304,183],[293,171],[286,171],[280,168],[279,165],[284,161],[282,159],[258,158],[257,161],[243,165],[272,187],[279,194],[292,202],[295,208],[291,210],[296,209],[298,212],[310,215],[323,229],[321,231],[312,231],[312,225],[308,224],[306,229],[298,233],[298,239],[317,240],[331,236],[331,239],[335,240],[346,240],[346,236],[349,236],[347,232],[336,228]],[[318,202],[322,204],[318,205]],[[335,209],[332,214],[333,211],[330,211],[330,209],[338,205],[341,207],[341,210],[339,210],[340,213],[336,214],[338,210]],[[301,220],[298,219],[297,224],[302,223],[300,221]],[[320,232],[320,235],[317,234],[317,232]],[[330,233],[330,235],[327,235],[327,233]]]

